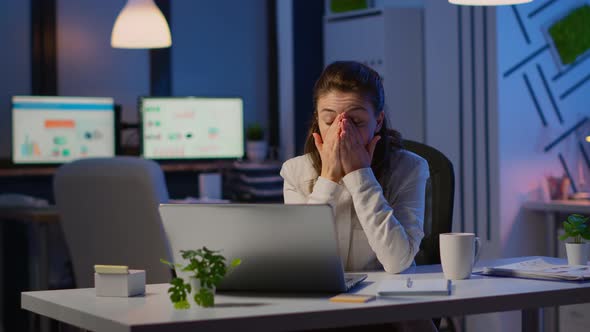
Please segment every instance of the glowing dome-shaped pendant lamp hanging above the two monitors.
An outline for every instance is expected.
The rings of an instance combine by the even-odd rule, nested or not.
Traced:
[[[166,18],[153,0],[127,0],[119,13],[111,46],[115,48],[163,48],[172,45]]]

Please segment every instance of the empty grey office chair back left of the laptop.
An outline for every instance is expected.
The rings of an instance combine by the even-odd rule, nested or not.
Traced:
[[[94,287],[94,265],[146,270],[169,282],[170,255],[158,212],[168,201],[160,166],[135,157],[92,158],[61,166],[53,188],[77,287]]]

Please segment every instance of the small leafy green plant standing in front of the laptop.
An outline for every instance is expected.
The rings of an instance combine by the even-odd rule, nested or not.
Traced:
[[[173,264],[166,260],[160,261],[171,268],[180,268],[183,272],[192,272],[188,282],[182,278],[173,278],[168,289],[170,300],[176,309],[188,309],[191,294],[195,303],[202,307],[215,305],[215,289],[225,275],[241,264],[240,259],[234,259],[229,266],[225,264],[225,257],[220,251],[209,250],[207,247],[197,250],[181,250],[182,258],[188,260],[186,265]]]

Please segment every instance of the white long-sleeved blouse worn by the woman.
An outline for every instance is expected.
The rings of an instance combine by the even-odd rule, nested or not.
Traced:
[[[371,168],[335,183],[319,177],[308,155],[287,160],[281,169],[285,204],[330,204],[338,250],[347,271],[384,268],[399,273],[414,263],[424,237],[428,163],[406,150],[392,153],[385,190]]]

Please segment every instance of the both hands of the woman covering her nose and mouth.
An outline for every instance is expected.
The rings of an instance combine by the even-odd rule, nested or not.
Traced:
[[[365,144],[358,128],[341,113],[332,122],[324,139],[313,133],[315,146],[322,159],[320,176],[339,182],[344,175],[371,166],[375,146],[381,138],[375,136]]]

